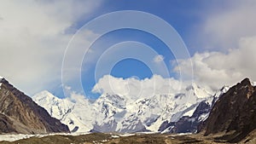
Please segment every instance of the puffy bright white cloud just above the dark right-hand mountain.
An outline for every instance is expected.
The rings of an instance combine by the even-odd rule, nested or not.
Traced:
[[[256,80],[256,37],[241,38],[239,48],[230,49],[227,54],[221,52],[196,53],[191,60],[195,82],[201,85],[208,85],[212,89],[219,89],[224,84],[233,85],[240,82],[243,78]],[[179,68],[184,74],[191,68],[190,60],[183,62],[175,67]]]

